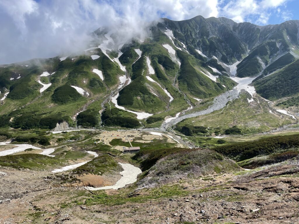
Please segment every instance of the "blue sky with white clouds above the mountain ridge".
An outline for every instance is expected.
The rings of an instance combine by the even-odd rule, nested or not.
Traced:
[[[279,24],[299,19],[299,0],[0,0],[0,64],[82,50],[103,26],[130,38],[160,17],[198,15]]]

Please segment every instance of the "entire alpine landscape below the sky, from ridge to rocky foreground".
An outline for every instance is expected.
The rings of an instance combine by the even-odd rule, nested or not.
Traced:
[[[0,65],[0,223],[298,223],[299,21],[147,32]]]

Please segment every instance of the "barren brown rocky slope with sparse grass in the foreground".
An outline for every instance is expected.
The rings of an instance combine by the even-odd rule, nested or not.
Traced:
[[[0,223],[298,223],[298,164],[155,189],[54,187],[47,171],[1,169]],[[20,181],[21,180],[21,181]],[[7,200],[9,199],[9,200]]]

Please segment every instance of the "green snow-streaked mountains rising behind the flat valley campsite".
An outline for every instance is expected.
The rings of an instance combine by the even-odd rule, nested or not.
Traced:
[[[299,21],[258,26],[196,16],[148,29],[147,39],[118,45],[115,31],[100,28],[81,53],[1,65],[0,126],[217,135],[296,122]]]

